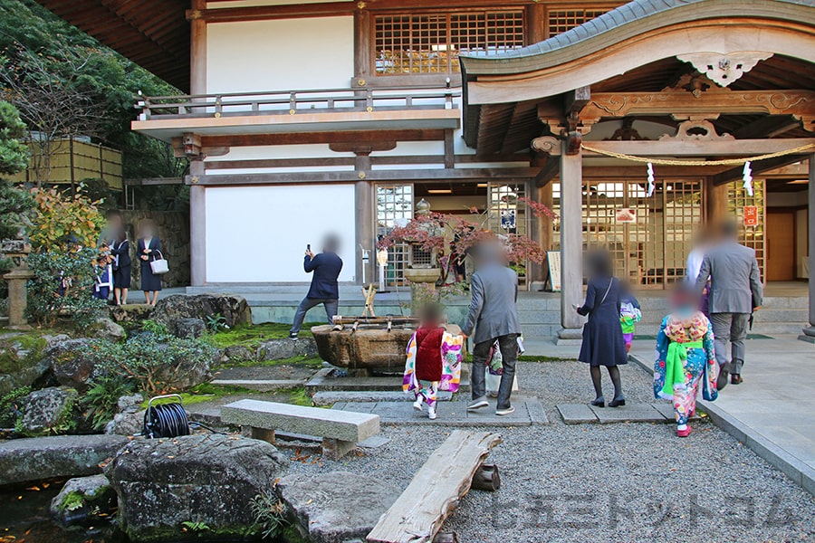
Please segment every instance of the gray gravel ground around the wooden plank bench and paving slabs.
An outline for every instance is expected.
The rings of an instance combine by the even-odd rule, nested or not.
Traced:
[[[713,424],[695,424],[681,441],[672,424],[562,424],[556,403],[593,398],[588,368],[544,362],[519,370],[523,392],[541,398],[553,424],[499,430],[503,443],[490,460],[502,489],[462,500],[445,525],[461,541],[815,539],[815,498]],[[628,400],[654,402],[646,372],[629,364],[622,378]],[[292,472],[362,472],[404,488],[448,433],[386,426],[392,441],[378,449],[341,462],[292,462]]]

